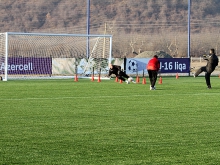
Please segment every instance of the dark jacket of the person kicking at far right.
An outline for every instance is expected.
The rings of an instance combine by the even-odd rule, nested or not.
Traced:
[[[215,53],[206,55],[203,57],[204,60],[207,60],[206,70],[211,73],[215,70],[215,67],[218,66],[218,57]]]

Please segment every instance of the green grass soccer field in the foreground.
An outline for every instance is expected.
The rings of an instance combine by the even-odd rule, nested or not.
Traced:
[[[0,82],[0,164],[218,164],[220,79],[141,82]]]

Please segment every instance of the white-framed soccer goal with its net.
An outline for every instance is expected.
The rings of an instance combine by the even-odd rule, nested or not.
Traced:
[[[111,35],[1,33],[0,75],[8,79],[103,77]]]

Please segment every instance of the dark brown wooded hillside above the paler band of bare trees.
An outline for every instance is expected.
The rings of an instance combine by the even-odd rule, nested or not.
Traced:
[[[46,30],[86,26],[87,1],[82,0],[3,0],[0,2],[1,32]],[[220,3],[217,0],[192,3],[192,20],[219,18]],[[104,26],[105,22],[117,26],[139,26],[157,23],[186,23],[188,1],[180,0],[91,0],[91,30]],[[129,30],[128,30],[129,29]],[[125,28],[126,32],[145,32],[146,29]],[[94,30],[95,31],[95,30]]]

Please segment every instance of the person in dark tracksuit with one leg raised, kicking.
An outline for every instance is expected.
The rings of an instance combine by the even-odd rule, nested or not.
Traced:
[[[205,72],[205,80],[208,89],[211,89],[210,76],[211,73],[215,70],[215,67],[218,66],[218,57],[215,55],[215,49],[211,49],[209,55],[203,56],[204,60],[207,60],[207,65],[199,68],[194,77],[197,77],[200,73]]]

